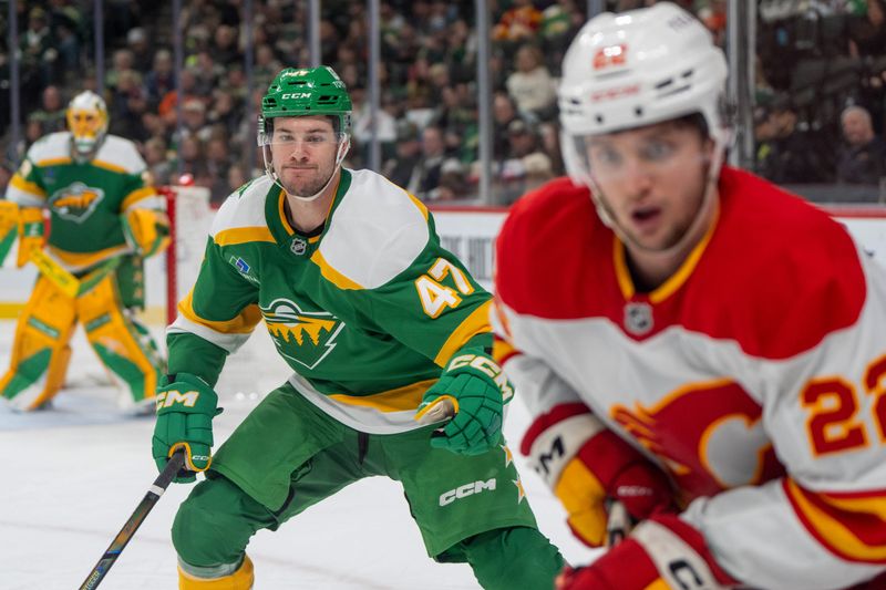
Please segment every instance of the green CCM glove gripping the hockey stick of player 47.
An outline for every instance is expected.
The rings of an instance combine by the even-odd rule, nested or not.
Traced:
[[[154,424],[152,451],[157,468],[178,448],[185,449],[185,469],[175,478],[190,483],[196,472],[205,472],[212,463],[213,418],[222,413],[218,395],[200,377],[190,373],[166,375],[157,387],[157,422]]]

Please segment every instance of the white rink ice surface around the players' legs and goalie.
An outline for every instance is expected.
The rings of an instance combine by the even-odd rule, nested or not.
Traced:
[[[0,369],[9,362],[13,323],[0,321]],[[0,407],[0,588],[79,588],[156,477],[153,418],[121,418],[97,359],[74,339],[68,385],[54,407],[13,414]],[[288,369],[267,335],[256,333],[229,360],[215,420],[223,442]],[[526,426],[512,404],[505,432],[540,529],[576,563],[591,559],[569,534],[563,511],[516,452]],[[190,486],[173,484],[101,584],[102,590],[177,587],[169,527]],[[256,590],[455,590],[478,588],[465,565],[440,565],[424,552],[399,485],[359,482],[289,520],[260,531],[248,548]]]

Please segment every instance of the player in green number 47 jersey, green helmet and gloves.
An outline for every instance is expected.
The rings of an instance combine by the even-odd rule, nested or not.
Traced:
[[[178,480],[206,472],[173,525],[179,588],[251,588],[257,530],[383,475],[433,559],[470,563],[487,589],[549,589],[563,559],[502,438],[512,390],[490,356],[490,296],[418,199],[342,167],[350,113],[331,69],[277,75],[259,117],[267,175],[219,209],[168,329],[154,458],[183,448]],[[210,456],[213,387],[260,320],[295,373]],[[449,423],[416,421],[441,400]]]

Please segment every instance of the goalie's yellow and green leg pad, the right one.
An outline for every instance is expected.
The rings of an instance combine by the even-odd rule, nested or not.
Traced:
[[[156,344],[128,319],[114,276],[107,275],[78,298],[76,310],[93,350],[131,393],[122,405],[141,405],[153,398],[163,369]]]

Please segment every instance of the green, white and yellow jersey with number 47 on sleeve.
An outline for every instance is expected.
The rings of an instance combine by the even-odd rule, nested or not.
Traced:
[[[261,177],[228,197],[190,293],[169,327],[169,373],[215,384],[225,358],[264,320],[291,384],[362,432],[412,420],[460,348],[490,346],[490,294],[440,246],[418,199],[370,170],[342,169],[322,230],[288,222]]]

